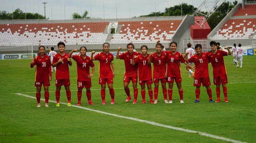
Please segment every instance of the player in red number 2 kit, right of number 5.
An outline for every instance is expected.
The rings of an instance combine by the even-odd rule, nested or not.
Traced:
[[[129,89],[129,83],[132,80],[133,94],[134,94],[133,104],[136,104],[137,97],[138,97],[138,88],[137,88],[138,64],[136,64],[135,66],[132,66],[132,61],[134,56],[137,56],[141,53],[134,51],[134,45],[132,43],[127,44],[126,48],[127,48],[127,52],[124,52],[119,55],[119,51],[122,49],[122,47],[118,47],[116,59],[123,60],[125,65],[125,72],[123,76],[123,87],[127,95],[125,102],[129,102],[132,99],[130,95],[130,89]]]

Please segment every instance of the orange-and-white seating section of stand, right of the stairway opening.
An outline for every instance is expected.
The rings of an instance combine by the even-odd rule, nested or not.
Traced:
[[[121,30],[114,34],[111,43],[169,42],[182,20],[119,22]]]

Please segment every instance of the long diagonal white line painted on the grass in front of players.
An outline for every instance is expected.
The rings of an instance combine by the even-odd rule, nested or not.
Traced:
[[[21,96],[36,99],[35,97],[25,95],[25,94],[21,94],[21,93],[16,93],[16,95],[21,95]],[[44,100],[44,99],[41,99],[41,100]],[[52,101],[52,100],[49,100],[49,102],[56,103],[56,101]],[[60,102],[60,104],[67,105],[67,103],[63,103],[63,102]],[[114,113],[104,112],[104,111],[100,111],[100,110],[94,110],[94,109],[81,107],[81,106],[77,106],[77,105],[72,105],[72,107],[76,107],[76,108],[80,108],[80,109],[84,109],[84,110],[88,110],[88,111],[93,111],[93,112],[97,112],[97,113],[102,113],[104,115],[114,116],[114,117],[118,117],[118,118],[129,119],[129,120],[133,120],[133,121],[137,121],[137,122],[147,123],[147,124],[154,125],[154,126],[169,128],[169,129],[173,129],[173,130],[184,131],[184,132],[188,132],[188,133],[198,133],[202,136],[216,138],[216,139],[220,139],[220,140],[224,140],[224,141],[229,141],[229,142],[234,142],[234,143],[246,143],[246,142],[242,142],[242,141],[239,141],[239,140],[234,140],[234,139],[230,139],[230,138],[226,138],[226,137],[212,135],[212,134],[208,134],[208,133],[204,133],[204,132],[198,132],[198,131],[194,131],[194,130],[188,130],[188,129],[178,128],[178,127],[173,127],[173,126],[169,126],[169,125],[164,125],[164,124],[160,124],[160,123],[156,123],[156,122],[152,122],[152,121],[141,120],[141,119],[132,118],[132,117],[125,117],[125,116],[121,116],[121,115],[116,115]]]

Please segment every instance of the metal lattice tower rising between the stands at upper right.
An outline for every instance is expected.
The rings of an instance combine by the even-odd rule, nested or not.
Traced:
[[[193,13],[194,16],[203,16],[203,21],[200,21],[200,27],[203,27],[208,18],[225,2],[226,0],[205,0]],[[206,12],[203,13],[203,12]]]

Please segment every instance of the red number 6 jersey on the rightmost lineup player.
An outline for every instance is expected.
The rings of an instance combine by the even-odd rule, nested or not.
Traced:
[[[227,55],[227,52],[217,50],[217,52],[214,54],[212,52],[209,53],[209,61],[211,63],[214,73],[214,77],[218,77],[223,74],[227,74],[226,67],[224,63],[223,56]]]

